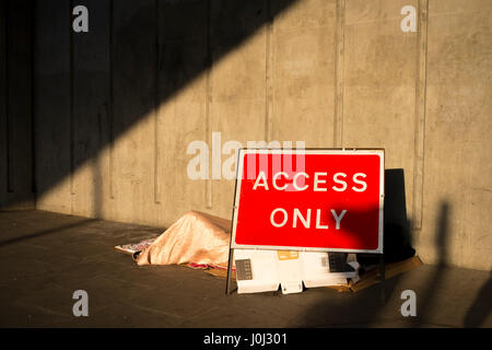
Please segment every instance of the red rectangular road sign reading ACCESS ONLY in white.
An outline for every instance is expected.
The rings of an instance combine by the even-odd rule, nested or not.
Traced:
[[[383,253],[384,150],[241,149],[232,248]]]

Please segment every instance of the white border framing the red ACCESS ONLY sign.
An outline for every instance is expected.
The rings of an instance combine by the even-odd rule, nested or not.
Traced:
[[[244,156],[246,154],[354,154],[367,155],[376,154],[379,156],[379,225],[378,225],[378,245],[376,249],[341,249],[341,248],[313,248],[313,247],[293,247],[293,246],[270,246],[270,245],[247,245],[236,244],[237,213],[239,209],[241,183],[243,179]],[[265,249],[265,250],[301,250],[301,252],[340,252],[340,253],[373,253],[383,254],[384,237],[384,197],[385,197],[385,150],[384,149],[245,149],[237,152],[236,163],[236,187],[233,207],[233,223],[231,234],[232,249]]]

